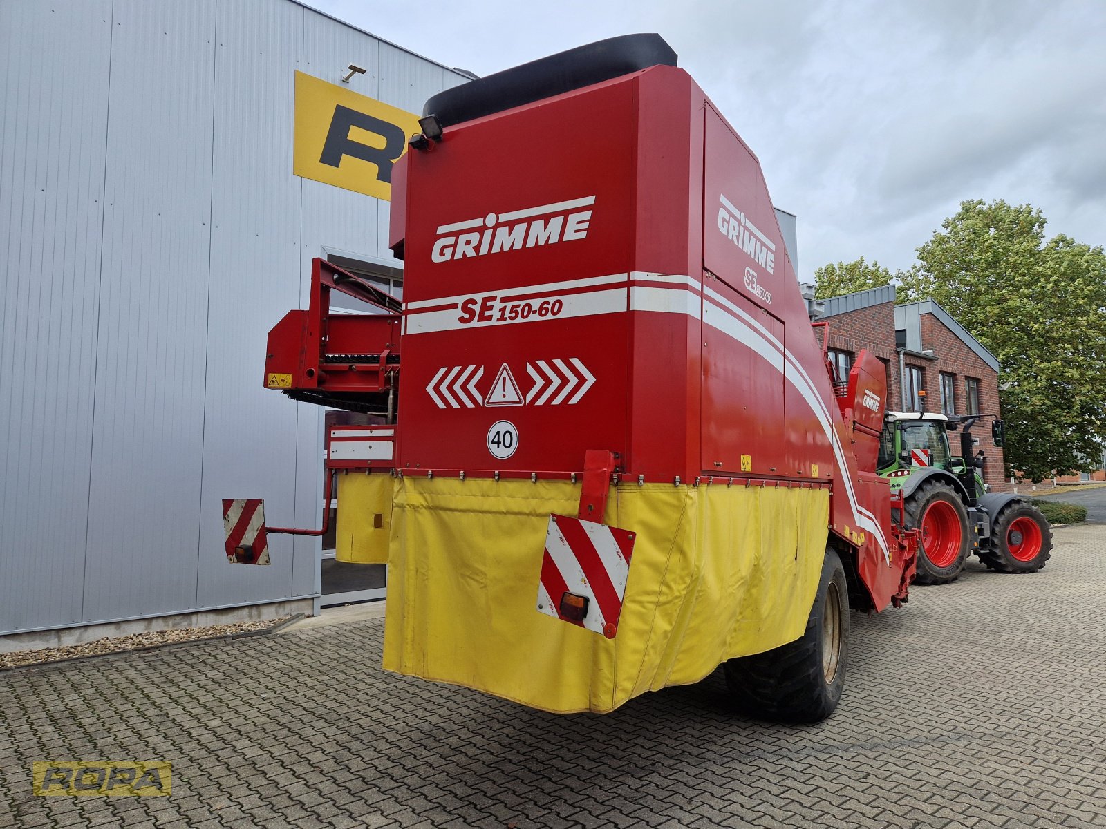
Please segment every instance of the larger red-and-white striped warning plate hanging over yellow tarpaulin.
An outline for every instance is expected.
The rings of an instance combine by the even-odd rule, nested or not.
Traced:
[[[551,515],[538,585],[538,609],[614,639],[626,595],[634,538],[634,533],[618,527]],[[577,620],[562,612],[565,594],[586,599],[583,618]]]

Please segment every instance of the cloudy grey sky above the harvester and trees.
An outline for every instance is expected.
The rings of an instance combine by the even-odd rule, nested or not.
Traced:
[[[479,75],[659,32],[799,216],[800,275],[909,267],[964,199],[1106,243],[1106,2],[309,0]]]

